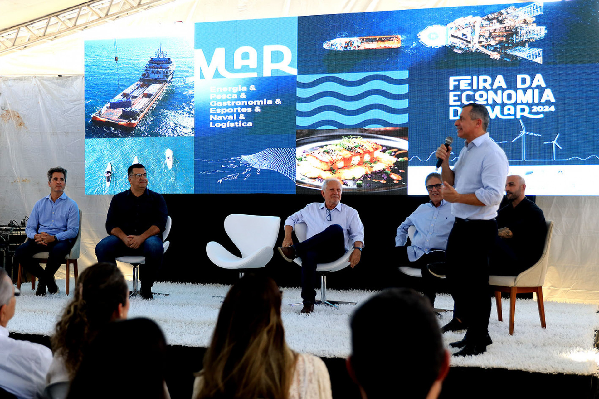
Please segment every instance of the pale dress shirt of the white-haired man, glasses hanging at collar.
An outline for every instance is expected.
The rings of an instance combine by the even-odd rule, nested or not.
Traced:
[[[325,203],[313,202],[288,217],[285,226],[294,227],[294,224],[301,222],[307,226],[306,239],[322,232],[331,224],[338,224],[343,229],[346,251],[353,248],[353,243],[356,241],[364,243],[364,224],[360,220],[358,211],[341,202],[331,210],[331,221],[326,220]]]

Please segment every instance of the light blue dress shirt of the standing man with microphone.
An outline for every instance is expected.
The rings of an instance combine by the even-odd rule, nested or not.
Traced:
[[[507,178],[507,157],[489,133],[477,137],[470,144],[464,142],[458,162],[453,166],[453,184],[460,194],[474,193],[485,206],[452,203],[456,218],[492,220],[503,198]]]

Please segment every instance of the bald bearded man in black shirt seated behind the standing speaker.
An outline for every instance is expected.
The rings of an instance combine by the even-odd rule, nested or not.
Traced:
[[[539,261],[547,226],[543,211],[525,195],[521,176],[507,176],[506,197],[510,201],[497,213],[497,239],[489,266],[491,275],[518,276]]]

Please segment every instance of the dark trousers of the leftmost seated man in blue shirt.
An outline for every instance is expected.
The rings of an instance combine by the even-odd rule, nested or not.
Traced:
[[[26,243],[19,245],[19,248],[14,252],[14,258],[25,267],[25,270],[40,279],[41,285],[46,285],[47,281],[52,280],[54,273],[56,273],[60,265],[65,263],[65,256],[71,252],[74,243],[74,239],[68,239],[53,241],[46,246],[38,244],[35,240],[28,240]],[[40,252],[49,253],[45,270],[33,258],[35,254],[39,254]]]

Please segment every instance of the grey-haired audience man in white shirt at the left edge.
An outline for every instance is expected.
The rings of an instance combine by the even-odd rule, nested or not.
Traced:
[[[19,399],[37,398],[46,386],[52,351],[38,343],[8,337],[8,321],[14,316],[14,285],[0,269],[0,388]]]

